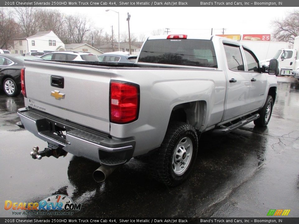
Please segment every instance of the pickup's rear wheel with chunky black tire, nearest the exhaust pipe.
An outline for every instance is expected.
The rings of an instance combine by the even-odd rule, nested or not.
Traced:
[[[198,149],[198,137],[192,125],[169,124],[160,148],[150,156],[151,175],[173,187],[181,184],[192,171]]]

